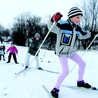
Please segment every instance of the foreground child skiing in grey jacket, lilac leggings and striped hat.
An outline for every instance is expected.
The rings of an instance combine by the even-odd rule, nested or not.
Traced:
[[[61,21],[60,19],[62,16],[60,12],[55,13],[47,24],[48,28],[50,28],[53,22],[56,22],[51,32],[57,34],[55,54],[58,55],[62,66],[62,72],[54,88],[51,90],[51,95],[54,98],[58,98],[61,83],[69,74],[68,59],[73,60],[79,66],[77,86],[91,88],[91,85],[86,83],[83,79],[86,63],[76,53],[75,49],[75,42],[77,39],[87,39],[91,37],[91,33],[82,31],[79,25],[83,13],[78,7],[72,7],[68,12],[67,20]]]

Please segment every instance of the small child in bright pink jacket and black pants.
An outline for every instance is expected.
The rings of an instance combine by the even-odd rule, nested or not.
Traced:
[[[9,52],[7,63],[10,63],[11,56],[13,55],[14,62],[16,64],[19,64],[16,58],[16,54],[18,54],[18,49],[15,47],[13,43],[11,43],[11,46],[7,49],[7,52]]]

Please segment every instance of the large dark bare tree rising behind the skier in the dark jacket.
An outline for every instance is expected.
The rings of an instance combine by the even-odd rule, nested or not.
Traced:
[[[15,18],[12,27],[12,38],[17,44],[25,44],[28,37],[33,37],[35,32],[40,31],[41,17],[32,15],[30,12],[23,13]],[[39,32],[40,33],[40,32]],[[21,37],[20,37],[21,35]],[[15,38],[15,36],[18,38]],[[21,41],[22,39],[22,41]],[[24,43],[20,43],[24,42]]]

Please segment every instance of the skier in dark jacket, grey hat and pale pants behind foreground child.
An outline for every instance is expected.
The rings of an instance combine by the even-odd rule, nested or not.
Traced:
[[[33,55],[35,56],[36,52],[39,49],[39,46],[41,44],[41,36],[39,33],[35,33],[33,38],[29,39],[29,48],[28,48],[28,53],[26,56],[26,62],[25,62],[25,69],[28,68],[28,66],[30,65],[30,57]],[[39,67],[39,57],[38,57],[39,53],[35,56],[35,60],[36,60],[36,68],[39,70],[42,70],[41,67]]]

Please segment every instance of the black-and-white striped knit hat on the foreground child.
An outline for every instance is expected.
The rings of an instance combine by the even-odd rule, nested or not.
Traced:
[[[77,15],[83,16],[82,11],[81,11],[78,7],[72,7],[72,8],[70,9],[70,11],[68,12],[68,18],[77,16]]]

